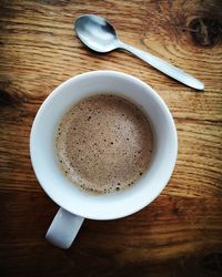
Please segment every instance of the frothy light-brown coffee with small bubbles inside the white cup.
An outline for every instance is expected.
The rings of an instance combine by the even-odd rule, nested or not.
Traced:
[[[153,133],[141,109],[119,95],[98,94],[74,104],[56,135],[60,167],[88,192],[131,186],[152,158]]]

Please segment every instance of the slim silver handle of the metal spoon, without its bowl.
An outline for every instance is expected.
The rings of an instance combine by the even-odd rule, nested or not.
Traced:
[[[137,48],[133,48],[129,44],[125,44],[123,42],[119,43],[119,48],[124,49],[124,50],[133,53],[134,55],[139,57],[140,59],[142,59],[143,61],[145,61],[147,63],[152,65],[153,68],[160,70],[164,74],[175,79],[176,81],[179,81],[188,86],[191,86],[191,88],[196,89],[196,90],[204,89],[204,84],[201,81],[199,81],[198,79],[183,72],[182,70],[171,65],[170,63],[159,59],[155,55],[143,52],[143,51],[141,51]]]

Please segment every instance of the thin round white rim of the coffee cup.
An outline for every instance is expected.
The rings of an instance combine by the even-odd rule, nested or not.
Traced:
[[[36,161],[34,161],[34,156],[33,156],[33,147],[34,147],[34,134],[36,134],[36,129],[38,126],[38,120],[40,114],[42,113],[42,111],[44,110],[46,105],[52,101],[52,99],[60,93],[60,91],[65,88],[65,85],[68,85],[69,83],[74,81],[79,81],[81,79],[88,78],[88,76],[98,76],[98,75],[112,75],[112,76],[120,76],[120,78],[124,78],[131,81],[134,81],[138,83],[138,85],[142,85],[143,88],[145,88],[147,90],[149,90],[150,92],[152,92],[153,96],[158,99],[158,101],[161,103],[162,109],[164,110],[164,112],[168,114],[168,120],[171,124],[171,130],[173,132],[173,140],[174,140],[174,148],[173,154],[172,154],[172,161],[170,161],[170,170],[168,171],[168,176],[164,178],[164,183],[162,186],[159,186],[159,189],[155,189],[155,193],[152,194],[152,197],[147,197],[147,201],[141,202],[140,205],[137,205],[134,208],[132,208],[130,212],[127,211],[125,213],[120,213],[119,215],[114,215],[114,216],[98,216],[98,215],[85,215],[84,213],[75,213],[72,211],[72,208],[69,206],[69,204],[65,204],[64,202],[62,202],[61,198],[56,198],[53,193],[48,189],[48,185],[46,184],[46,182],[43,181],[43,177],[41,177],[41,174],[39,172],[36,171]],[[79,216],[83,216],[85,218],[90,218],[90,219],[102,219],[102,220],[108,220],[108,219],[117,219],[117,218],[121,218],[121,217],[125,217],[129,216],[131,214],[134,214],[137,212],[139,212],[140,209],[144,208],[147,205],[149,205],[152,201],[154,201],[163,191],[163,188],[167,186],[172,172],[174,170],[175,166],[175,161],[176,161],[176,156],[178,156],[178,135],[176,135],[176,129],[175,129],[175,124],[173,121],[173,117],[170,113],[169,107],[167,106],[167,104],[164,103],[164,101],[160,98],[160,95],[147,83],[144,83],[143,81],[141,81],[140,79],[132,76],[130,74],[123,73],[123,72],[119,72],[119,71],[110,71],[110,70],[100,70],[100,71],[90,71],[90,72],[84,72],[82,74],[78,74],[75,76],[72,76],[70,79],[68,79],[67,81],[64,81],[63,83],[61,83],[59,86],[57,86],[48,96],[47,99],[43,101],[43,103],[41,104],[41,106],[39,107],[39,111],[37,112],[37,115],[34,117],[34,121],[32,123],[32,127],[31,127],[31,134],[30,134],[30,157],[31,157],[31,163],[32,163],[32,167],[34,170],[37,179],[39,181],[39,184],[41,185],[41,187],[43,188],[43,191],[49,195],[49,197],[57,203],[59,206],[63,207],[64,209],[69,211],[72,214],[79,215]]]

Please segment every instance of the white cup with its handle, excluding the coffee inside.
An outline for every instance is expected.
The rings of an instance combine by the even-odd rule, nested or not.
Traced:
[[[56,156],[54,135],[59,121],[71,105],[98,93],[117,93],[142,106],[153,127],[155,150],[150,167],[127,189],[92,195],[70,183]],[[83,218],[115,219],[149,205],[165,187],[175,165],[178,136],[172,115],[163,100],[139,79],[115,71],[92,71],[69,79],[43,102],[30,136],[31,162],[39,183],[60,209],[47,238],[69,248]]]

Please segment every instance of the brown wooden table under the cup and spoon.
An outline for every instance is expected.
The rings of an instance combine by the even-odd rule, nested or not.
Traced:
[[[0,2],[0,276],[222,276],[221,1]],[[83,13],[205,83],[196,92],[129,53],[95,54],[73,33]],[[30,164],[29,134],[42,101],[67,79],[118,70],[169,105],[179,155],[163,193],[135,215],[85,220],[69,250],[44,239],[58,206]],[[46,168],[44,168],[46,170]]]

